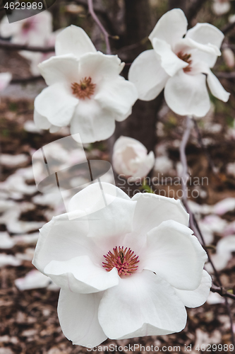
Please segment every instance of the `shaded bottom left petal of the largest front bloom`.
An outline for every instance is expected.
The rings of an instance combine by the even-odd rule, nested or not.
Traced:
[[[100,298],[100,293],[83,295],[61,290],[59,323],[64,335],[73,344],[92,348],[107,339],[97,317]]]

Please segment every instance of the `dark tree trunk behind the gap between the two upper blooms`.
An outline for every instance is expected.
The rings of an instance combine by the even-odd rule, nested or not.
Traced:
[[[155,23],[152,23],[151,10],[148,0],[125,0],[126,36],[123,45],[133,45],[150,35]],[[128,51],[128,61],[132,62],[147,44]],[[146,63],[147,65],[147,63]],[[128,69],[123,72],[127,78]],[[155,149],[157,143],[156,122],[157,112],[162,105],[162,95],[150,102],[137,101],[132,114],[123,122],[116,123],[115,140],[124,135],[133,137],[145,145],[148,151]]]

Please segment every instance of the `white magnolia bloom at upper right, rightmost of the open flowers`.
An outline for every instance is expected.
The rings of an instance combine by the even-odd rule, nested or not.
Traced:
[[[175,113],[203,117],[210,109],[207,85],[213,96],[229,99],[210,70],[221,55],[224,35],[209,23],[197,23],[188,32],[187,26],[179,8],[165,13],[150,33],[153,49],[134,60],[128,79],[140,100],[150,101],[164,89],[167,105]]]

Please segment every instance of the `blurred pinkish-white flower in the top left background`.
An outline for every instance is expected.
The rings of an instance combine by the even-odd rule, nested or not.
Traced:
[[[5,16],[0,23],[0,35],[11,38],[11,42],[20,45],[43,46],[52,33],[52,14],[42,11],[24,20],[9,23]]]

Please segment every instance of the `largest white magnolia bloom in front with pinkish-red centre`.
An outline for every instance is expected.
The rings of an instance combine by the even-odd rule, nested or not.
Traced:
[[[130,199],[95,183],[71,199],[70,210],[40,229],[33,260],[61,287],[64,335],[93,347],[107,337],[181,331],[185,306],[205,302],[211,278],[180,200],[152,193]]]

